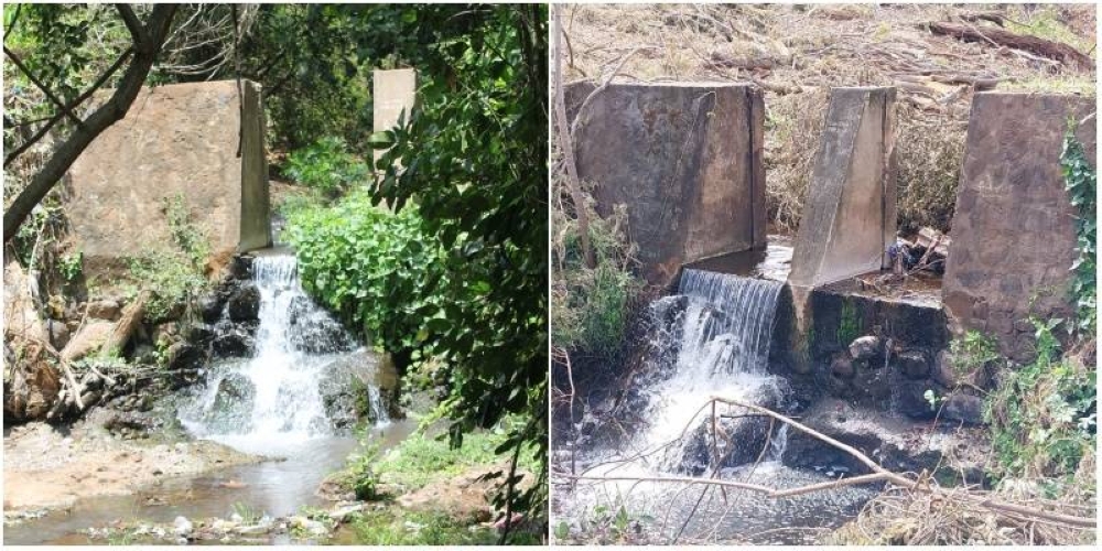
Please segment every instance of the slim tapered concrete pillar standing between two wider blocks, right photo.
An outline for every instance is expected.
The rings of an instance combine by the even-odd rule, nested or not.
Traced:
[[[895,88],[834,88],[803,219],[793,285],[879,270],[895,241]]]

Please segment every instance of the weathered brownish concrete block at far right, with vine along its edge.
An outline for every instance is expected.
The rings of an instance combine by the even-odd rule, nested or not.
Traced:
[[[977,94],[969,118],[942,299],[958,329],[996,337],[1001,352],[1033,358],[1030,314],[1071,318],[1067,284],[1076,259],[1076,208],[1063,188],[1060,151],[1068,119],[1092,99]],[[1079,139],[1094,159],[1095,119]]]

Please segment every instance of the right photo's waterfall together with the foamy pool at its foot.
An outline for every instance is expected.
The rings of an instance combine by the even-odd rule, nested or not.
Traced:
[[[649,354],[645,375],[633,380],[639,398],[627,408],[633,411],[622,415],[628,419],[583,419],[576,426],[586,422],[619,425],[603,435],[583,437],[584,443],[571,452],[576,475],[606,479],[558,486],[557,518],[584,530],[599,511],[623,507],[628,517],[647,519],[640,530],[656,543],[802,543],[860,507],[868,493],[855,487],[769,499],[743,489],[638,482],[688,475],[779,489],[827,479],[781,464],[787,428],[748,417],[745,408],[717,404],[713,412],[707,406],[712,397],[780,411],[788,406],[787,382],[768,370],[782,285],[766,279],[683,271],[678,293],[650,306]],[[714,439],[716,430],[731,439]],[[728,441],[731,447],[725,445]]]

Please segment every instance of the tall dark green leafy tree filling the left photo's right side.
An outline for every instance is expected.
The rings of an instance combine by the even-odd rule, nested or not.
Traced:
[[[434,354],[452,369],[443,407],[453,443],[508,414],[528,415],[501,450],[515,457],[531,454],[541,465],[537,484],[522,495],[503,494],[498,503],[511,497],[509,508],[541,518],[548,455],[548,7],[387,6],[369,10],[368,20],[371,57],[393,56],[421,72],[421,105],[407,114],[408,125],[391,129],[393,147],[376,166],[382,176],[374,193],[399,210],[415,202],[425,233],[447,251],[447,278],[435,285],[450,299],[443,304],[446,321],[424,329]],[[437,312],[418,314],[432,320]]]

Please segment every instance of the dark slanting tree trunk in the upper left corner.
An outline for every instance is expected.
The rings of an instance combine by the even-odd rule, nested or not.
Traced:
[[[84,153],[84,150],[96,137],[127,115],[130,105],[141,91],[145,76],[149,75],[149,69],[161,52],[161,46],[164,45],[176,8],[176,4],[155,6],[149,18],[149,23],[142,28],[134,25],[136,18],[128,6],[118,6],[133,37],[134,55],[130,61],[130,66],[127,67],[126,74],[122,75],[122,82],[115,89],[111,98],[85,119],[83,126],[77,126],[65,142],[54,150],[46,164],[34,175],[31,183],[20,192],[8,212],[3,214],[4,244],[15,236],[19,227],[31,214],[31,209],[53,190],[54,185],[68,172],[73,162]]]

